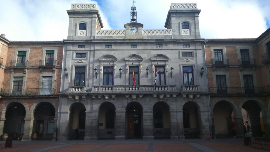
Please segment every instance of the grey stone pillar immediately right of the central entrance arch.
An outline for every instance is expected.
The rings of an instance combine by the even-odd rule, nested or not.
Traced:
[[[143,110],[143,139],[154,139],[153,110]]]

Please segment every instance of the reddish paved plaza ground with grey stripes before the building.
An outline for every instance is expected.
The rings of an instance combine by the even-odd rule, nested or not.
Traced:
[[[32,151],[32,152],[178,152],[178,151],[270,151],[270,146],[266,146],[265,150],[262,146],[255,145],[244,146],[244,139],[225,138],[214,140],[142,140],[142,139],[128,139],[128,140],[69,140],[69,141],[13,141],[12,148],[5,148],[5,141],[0,141],[0,151]]]

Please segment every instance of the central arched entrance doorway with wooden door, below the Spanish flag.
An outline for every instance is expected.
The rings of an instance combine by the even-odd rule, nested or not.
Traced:
[[[139,103],[127,105],[127,137],[141,138],[142,133],[142,108]]]

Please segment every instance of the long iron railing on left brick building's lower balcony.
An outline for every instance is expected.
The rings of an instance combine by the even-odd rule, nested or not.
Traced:
[[[29,88],[29,89],[1,89],[0,95],[18,96],[18,95],[54,95],[54,88]]]

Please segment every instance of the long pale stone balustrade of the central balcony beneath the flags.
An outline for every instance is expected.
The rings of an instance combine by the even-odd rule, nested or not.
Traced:
[[[92,86],[92,92],[170,92],[176,85],[99,85]]]

